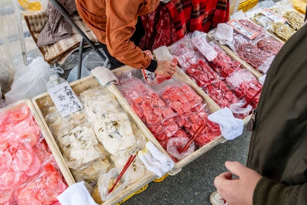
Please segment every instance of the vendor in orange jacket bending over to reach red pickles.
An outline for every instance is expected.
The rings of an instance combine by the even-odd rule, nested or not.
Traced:
[[[111,69],[128,65],[167,77],[176,72],[176,64],[153,60],[138,47],[145,34],[140,16],[155,11],[159,3],[159,0],[76,0],[76,7],[102,44]]]

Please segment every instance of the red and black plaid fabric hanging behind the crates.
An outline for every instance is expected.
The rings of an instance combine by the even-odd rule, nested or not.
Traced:
[[[208,32],[229,18],[229,0],[172,0],[166,7],[179,38],[196,30]]]

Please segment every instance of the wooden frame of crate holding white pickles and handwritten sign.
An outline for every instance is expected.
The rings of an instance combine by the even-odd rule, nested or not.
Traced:
[[[95,77],[93,75],[90,75],[90,76],[86,76],[84,78],[81,78],[81,79],[71,83],[70,86],[72,87],[73,91],[78,95],[82,91],[100,86],[100,84],[98,83],[98,81],[95,79]],[[52,135],[52,133],[51,133],[49,127],[48,127],[48,124],[45,120],[45,116],[47,114],[49,107],[54,105],[50,95],[47,92],[40,94],[40,95],[38,95],[38,96],[36,96],[32,99],[32,103],[33,103],[35,109],[37,110],[37,114],[41,118],[41,122],[42,122],[43,126],[46,127],[46,131],[47,131],[47,133],[46,133],[47,137],[46,138],[48,138],[49,141],[57,147],[55,138]],[[146,137],[146,133],[144,133],[144,136]],[[58,151],[59,151],[59,149],[58,149]],[[61,154],[60,151],[59,151],[59,153],[61,155],[61,158],[63,158],[63,155]],[[70,174],[71,174],[71,172],[70,172]],[[117,196],[105,201],[103,203],[103,205],[105,205],[105,204],[116,204],[116,203],[120,202],[121,200],[127,198],[127,196],[130,196],[131,194],[137,192],[138,190],[140,190],[141,188],[146,186],[150,181],[152,181],[155,178],[157,178],[157,176],[155,174],[153,174],[152,172],[147,172],[147,174],[142,179],[140,179],[139,181],[137,181],[133,185],[127,187],[126,189],[124,189]],[[75,178],[75,180],[80,181],[80,179],[77,179],[77,178]],[[87,188],[92,190],[91,189],[92,187],[87,186]]]

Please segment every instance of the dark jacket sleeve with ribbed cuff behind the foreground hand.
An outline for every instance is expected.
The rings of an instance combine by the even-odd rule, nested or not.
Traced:
[[[253,194],[253,205],[305,205],[307,204],[307,182],[286,186],[263,177]]]

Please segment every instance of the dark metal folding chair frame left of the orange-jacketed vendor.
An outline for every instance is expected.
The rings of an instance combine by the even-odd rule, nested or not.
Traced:
[[[73,22],[73,20],[70,18],[68,15],[68,12],[62,7],[61,4],[58,3],[57,0],[49,0],[49,2],[59,11],[59,13],[69,22],[70,25],[72,25],[77,32],[82,36],[80,45],[79,45],[79,60],[78,60],[78,74],[77,74],[77,79],[80,79],[81,77],[81,69],[82,69],[82,56],[83,56],[83,44],[84,40],[87,42],[93,50],[103,59],[105,60],[104,65],[108,63],[108,59],[106,56],[104,56],[100,51],[99,47],[95,46],[94,42],[90,40],[84,33],[83,31]]]

